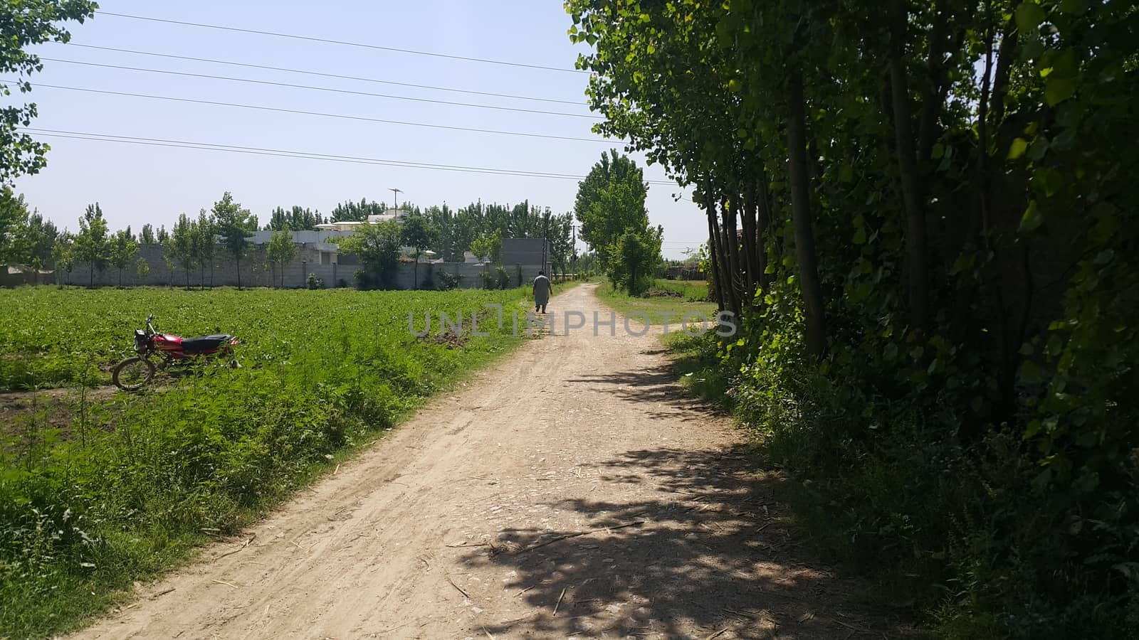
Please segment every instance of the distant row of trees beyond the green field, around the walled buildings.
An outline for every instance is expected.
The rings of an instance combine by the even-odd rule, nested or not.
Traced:
[[[367,211],[366,215],[383,211],[380,205],[371,207],[367,202],[361,205],[350,202],[342,207],[346,210],[349,205],[357,211]],[[95,273],[110,266],[118,270],[122,285],[124,270],[138,254],[139,245],[161,245],[167,266],[172,270],[181,268],[185,272],[187,287],[190,286],[190,272],[195,269],[200,271],[199,281],[205,286],[208,268],[208,281],[212,282],[215,256],[219,253],[228,255],[237,263],[240,286],[240,262],[248,246],[245,238],[257,231],[257,218],[236,203],[229,192],[211,210],[202,210],[197,218],[183,213],[170,230],[164,225],[155,230],[151,224],[145,224],[138,236],[129,227],[110,232],[98,203],[88,207],[75,233],[59,232],[38,213],[28,214],[23,196],[15,197],[10,190],[0,198],[0,211],[3,212],[0,221],[5,224],[5,232],[0,236],[3,239],[0,244],[2,262],[51,265],[66,272],[82,263],[90,268],[89,284],[92,286]],[[556,268],[566,269],[573,256],[572,215],[552,215],[548,208],[531,207],[528,203],[516,206],[473,203],[459,210],[443,205],[426,211],[405,205],[403,212],[399,222],[366,227],[359,238],[342,243],[342,251],[346,253],[363,251],[364,264],[370,271],[366,276],[368,286],[387,282],[399,262],[399,252],[404,247],[415,252],[417,264],[428,251],[452,261],[462,261],[464,253],[472,251],[478,259],[499,265],[506,233],[509,237],[547,237],[550,261]],[[297,254],[289,231],[314,228],[322,221],[319,213],[300,206],[273,211],[265,225],[265,230],[276,231],[265,247],[269,268],[280,268],[279,278],[274,273],[273,281],[284,282],[284,265]],[[141,259],[139,261],[137,269],[144,276],[149,272],[149,265],[142,264],[145,261]],[[418,266],[416,271],[418,286]]]

